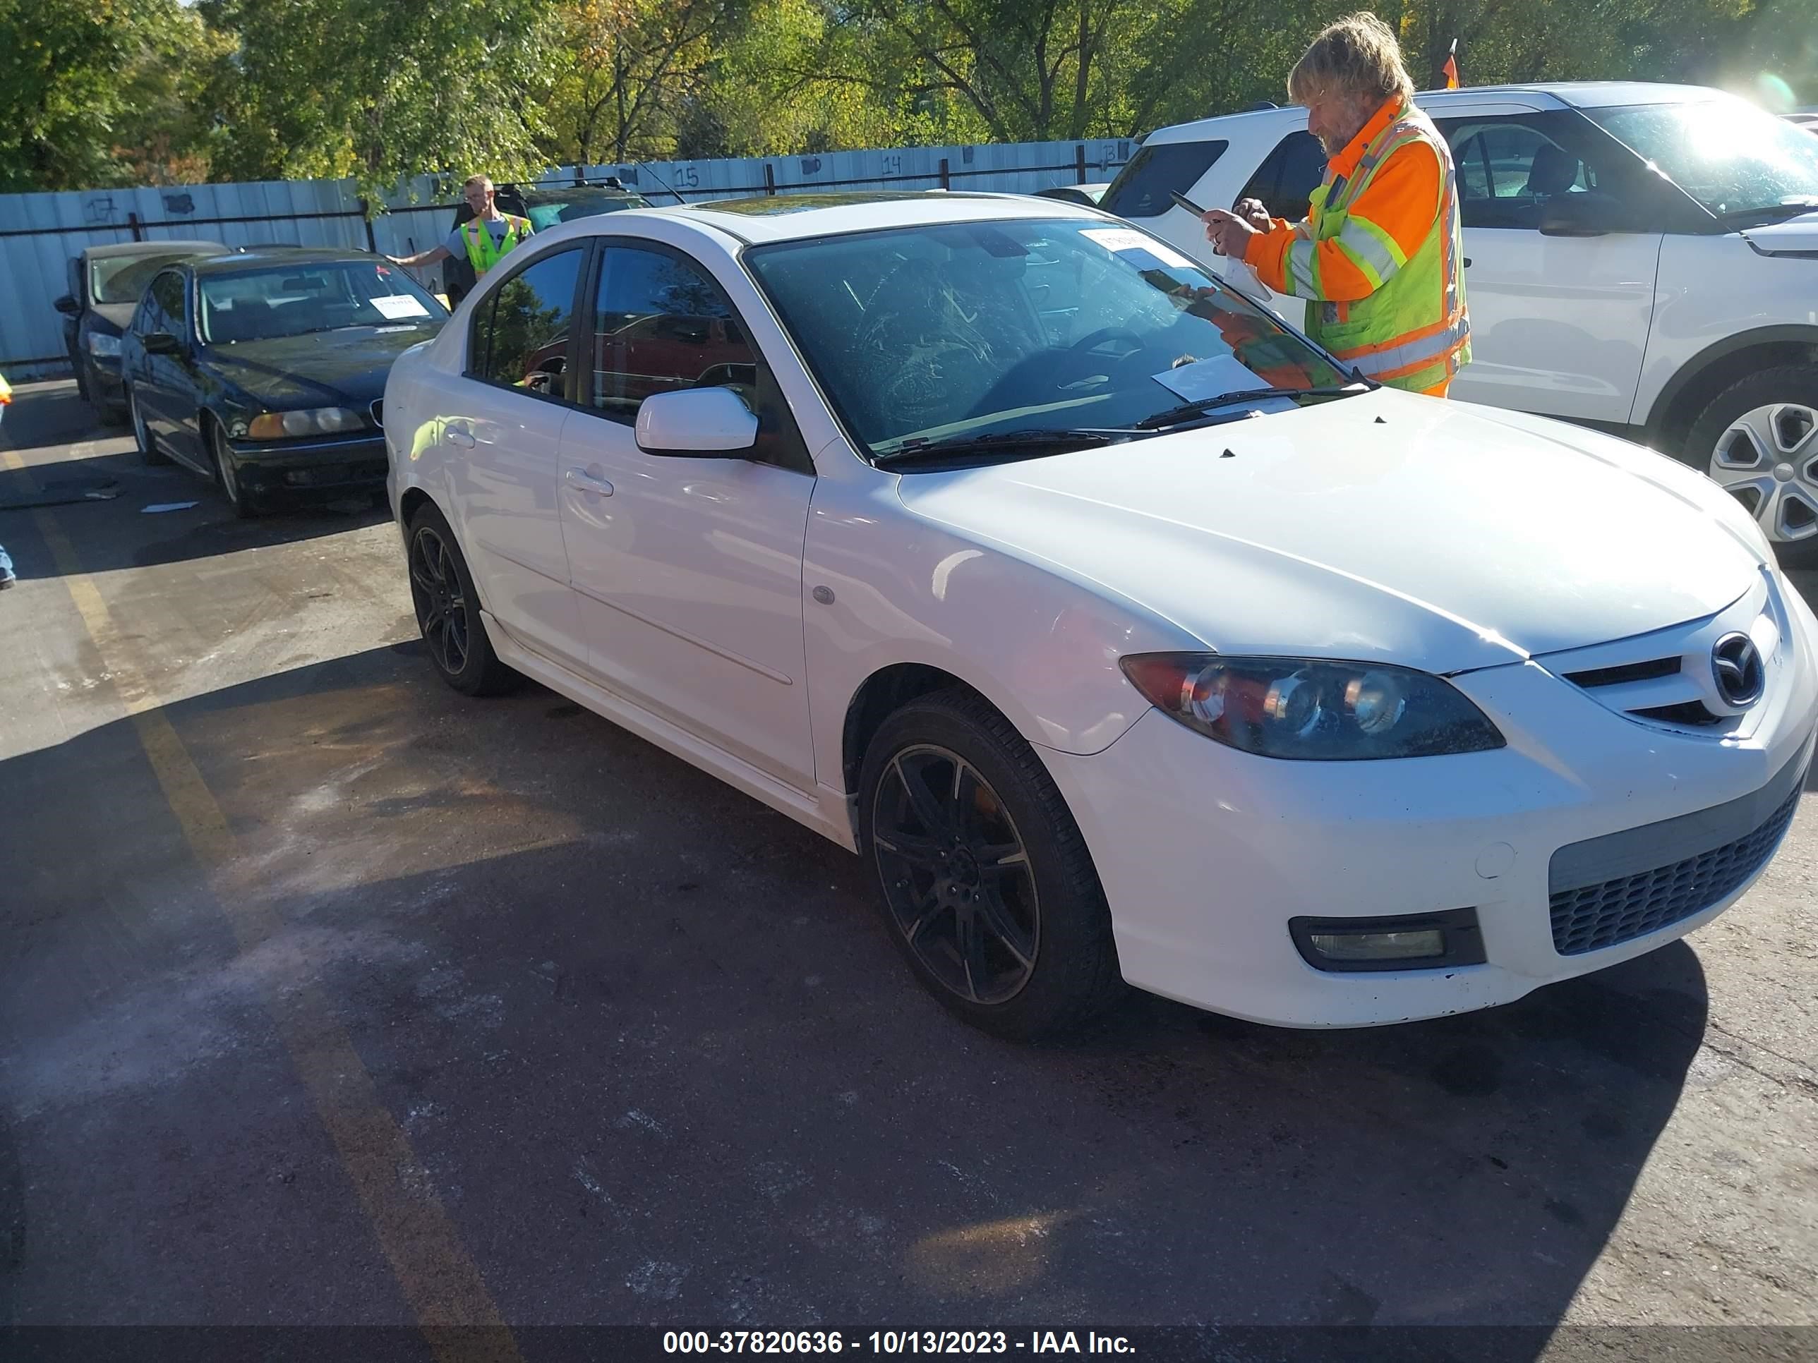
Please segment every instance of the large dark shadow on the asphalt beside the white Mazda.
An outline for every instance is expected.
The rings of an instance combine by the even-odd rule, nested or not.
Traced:
[[[856,858],[542,689],[373,649],[162,714],[285,929],[235,954],[133,723],[0,763],[0,1321],[395,1308],[262,1021],[304,981],[514,1323],[1549,1327],[1705,1029],[1673,945],[1443,1021],[1140,996],[1011,1047]]]

